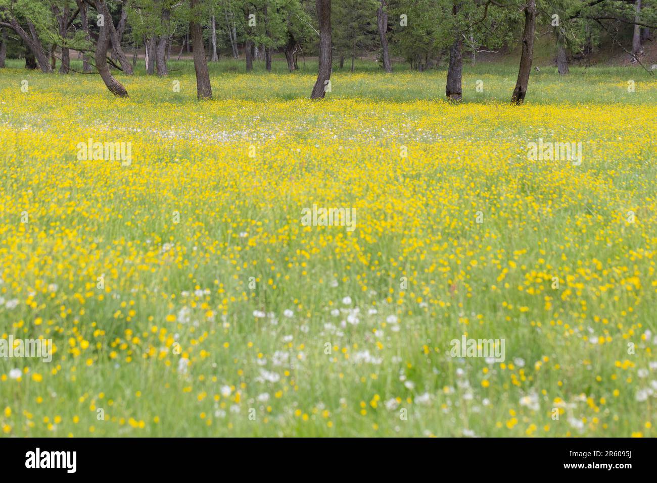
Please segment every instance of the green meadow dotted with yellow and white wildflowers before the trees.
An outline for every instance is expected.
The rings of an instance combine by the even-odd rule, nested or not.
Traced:
[[[125,99],[0,74],[0,334],[53,349],[0,358],[0,434],[656,435],[654,77],[533,72],[511,106],[513,68],[462,104],[440,71],[311,101],[311,68],[227,69],[199,102],[171,64]]]

